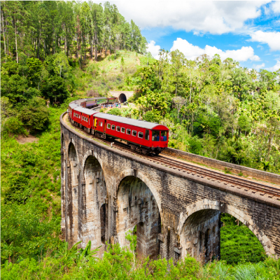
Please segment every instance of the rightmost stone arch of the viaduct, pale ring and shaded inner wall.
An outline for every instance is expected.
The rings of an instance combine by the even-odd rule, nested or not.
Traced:
[[[258,238],[265,253],[275,254],[272,242],[258,230],[251,216],[230,205],[225,206],[223,202],[201,200],[188,206],[180,215],[177,232],[182,246],[181,258],[184,258],[186,253],[196,258],[204,258],[205,261],[213,255],[219,257],[221,213],[230,214],[244,223]]]

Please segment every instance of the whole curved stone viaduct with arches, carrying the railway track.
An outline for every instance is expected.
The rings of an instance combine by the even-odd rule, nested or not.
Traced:
[[[126,232],[137,225],[139,256],[207,261],[220,256],[220,217],[228,213],[267,255],[280,255],[280,176],[257,172],[272,185],[187,164],[183,152],[139,155],[72,127],[65,113],[60,125],[62,232],[70,246],[91,240],[102,257],[106,241],[128,245]]]

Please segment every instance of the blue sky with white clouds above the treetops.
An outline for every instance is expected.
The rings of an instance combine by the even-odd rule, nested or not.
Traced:
[[[187,59],[215,54],[248,69],[280,69],[280,1],[119,0],[125,20],[133,20],[148,51],[180,50]]]

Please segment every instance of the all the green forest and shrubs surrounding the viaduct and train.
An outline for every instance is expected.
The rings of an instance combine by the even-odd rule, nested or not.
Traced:
[[[280,173],[279,76],[218,55],[153,59],[109,2],[1,1],[1,279],[280,279],[280,262],[227,214],[222,261],[206,266],[118,245],[97,260],[59,239],[59,116],[71,100],[134,90],[110,113],[167,125],[172,148]]]

